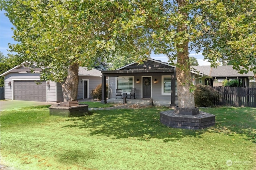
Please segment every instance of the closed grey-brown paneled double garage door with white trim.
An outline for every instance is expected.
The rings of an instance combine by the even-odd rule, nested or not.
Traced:
[[[46,102],[46,82],[37,85],[36,80],[14,80],[14,100]]]

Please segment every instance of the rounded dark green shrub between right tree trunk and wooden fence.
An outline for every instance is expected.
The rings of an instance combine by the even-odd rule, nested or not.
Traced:
[[[195,105],[197,107],[213,106],[214,98],[219,92],[208,85],[197,84],[195,90]]]

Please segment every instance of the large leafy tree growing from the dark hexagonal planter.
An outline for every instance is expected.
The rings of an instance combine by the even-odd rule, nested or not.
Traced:
[[[212,66],[235,61],[234,68],[241,73],[255,62],[255,0],[176,0],[165,2],[163,9],[159,27],[151,35],[156,53],[165,54],[170,62],[177,60],[172,64],[176,65],[179,107],[194,108],[190,51],[203,51]]]

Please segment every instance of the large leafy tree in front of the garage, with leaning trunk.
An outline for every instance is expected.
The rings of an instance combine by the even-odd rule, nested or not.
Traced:
[[[137,26],[145,21],[144,6],[146,1],[1,1],[20,42],[10,49],[44,67],[42,80],[60,82],[64,101],[77,99],[78,66],[90,69],[116,53],[136,61],[149,57],[144,27]]]

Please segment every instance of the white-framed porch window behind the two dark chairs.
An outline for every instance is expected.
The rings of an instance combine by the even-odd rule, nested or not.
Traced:
[[[122,89],[122,92],[130,92],[133,88],[134,77],[117,77],[116,78],[116,89]]]

